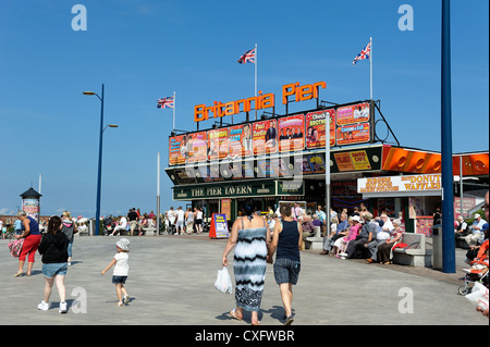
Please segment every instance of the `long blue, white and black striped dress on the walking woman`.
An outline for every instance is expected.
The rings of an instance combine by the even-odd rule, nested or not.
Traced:
[[[264,294],[267,268],[266,227],[238,231],[233,258],[236,307],[258,311]]]

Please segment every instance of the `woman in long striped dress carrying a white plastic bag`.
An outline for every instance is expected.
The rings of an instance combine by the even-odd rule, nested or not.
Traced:
[[[243,320],[243,310],[252,311],[252,324],[258,325],[270,231],[266,221],[254,213],[252,201],[245,203],[244,213],[245,215],[233,223],[232,233],[223,251],[222,264],[228,267],[226,257],[235,247],[233,272],[236,308],[230,311],[230,315]]]

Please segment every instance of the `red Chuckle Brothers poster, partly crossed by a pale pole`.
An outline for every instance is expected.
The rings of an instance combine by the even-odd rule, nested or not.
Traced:
[[[306,114],[306,148],[324,148],[326,117],[330,115],[330,146],[335,146],[335,110],[323,110]]]

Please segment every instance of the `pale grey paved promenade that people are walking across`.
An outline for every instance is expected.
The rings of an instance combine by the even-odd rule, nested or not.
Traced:
[[[66,314],[58,313],[56,288],[52,308],[37,310],[44,290],[40,256],[36,255],[32,276],[13,277],[17,259],[8,252],[8,241],[0,240],[0,324],[243,326],[249,323],[249,313],[245,322],[231,320],[228,312],[234,307],[234,295],[221,294],[213,287],[225,240],[209,239],[207,235],[130,237],[126,288],[131,302],[117,307],[112,270],[105,276],[100,271],[115,253],[119,238],[76,237],[73,264],[65,281]],[[464,250],[457,255],[458,265],[463,265]],[[232,264],[232,255],[229,259]],[[462,272],[446,275],[303,251],[299,282],[294,287],[294,325],[488,325],[488,319],[457,295],[461,276]],[[259,319],[262,325],[281,325],[282,314],[279,289],[269,265]]]

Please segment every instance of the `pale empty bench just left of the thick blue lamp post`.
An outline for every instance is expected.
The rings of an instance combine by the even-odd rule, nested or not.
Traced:
[[[431,250],[426,249],[426,235],[404,233],[402,243],[408,245],[405,248],[393,250],[393,262],[401,265],[415,268],[431,267]]]

